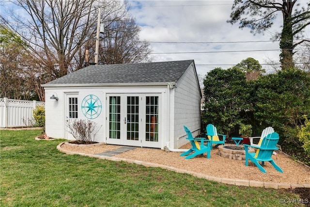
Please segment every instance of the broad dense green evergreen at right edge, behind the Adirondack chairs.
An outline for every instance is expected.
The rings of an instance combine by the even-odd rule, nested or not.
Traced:
[[[297,129],[310,115],[310,77],[290,68],[260,77],[256,82],[255,117],[263,126],[272,126],[280,143],[299,145]]]

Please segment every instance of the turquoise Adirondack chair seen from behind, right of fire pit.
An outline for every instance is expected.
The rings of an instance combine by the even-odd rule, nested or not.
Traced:
[[[279,134],[277,132],[273,132],[265,136],[262,140],[260,146],[252,146],[248,144],[244,144],[244,149],[246,151],[246,166],[248,166],[248,159],[250,159],[263,173],[267,173],[263,168],[263,163],[268,161],[276,168],[277,171],[283,173],[283,170],[275,163],[275,161],[271,158],[274,150],[278,150],[276,147],[279,141]],[[256,153],[249,153],[248,147],[256,148]],[[262,162],[262,165],[258,161]]]

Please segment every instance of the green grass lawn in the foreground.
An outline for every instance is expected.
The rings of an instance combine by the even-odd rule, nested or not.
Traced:
[[[40,132],[0,131],[1,207],[274,207],[283,206],[280,199],[298,198],[285,191],[65,155],[56,149],[63,140],[35,141]]]

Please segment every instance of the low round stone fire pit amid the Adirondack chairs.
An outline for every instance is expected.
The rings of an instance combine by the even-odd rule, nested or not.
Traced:
[[[248,152],[252,153],[255,150],[251,147],[248,148]],[[218,155],[223,158],[228,159],[246,159],[246,151],[244,150],[243,145],[219,145],[218,146]]]

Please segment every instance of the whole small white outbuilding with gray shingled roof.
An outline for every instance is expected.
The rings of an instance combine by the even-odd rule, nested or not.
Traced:
[[[178,149],[201,129],[202,93],[193,60],[90,65],[42,85],[46,133],[74,140],[67,123],[101,126],[95,142]]]

